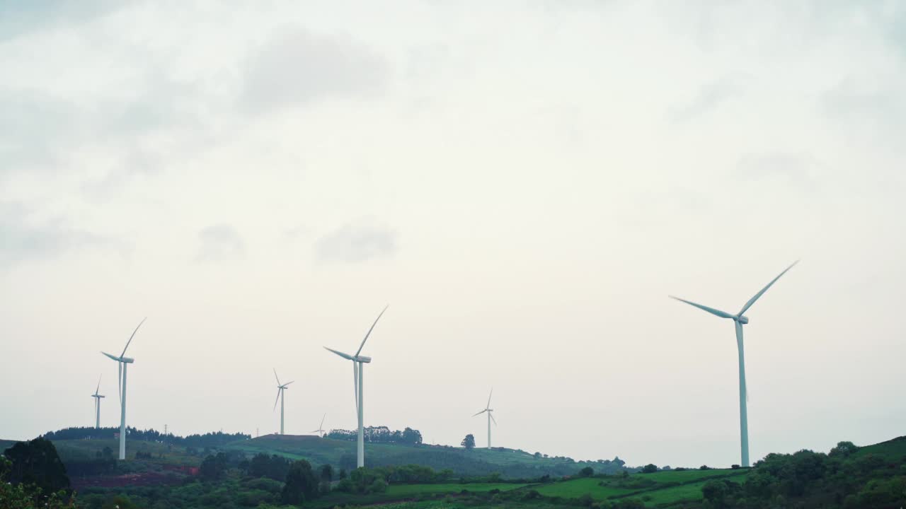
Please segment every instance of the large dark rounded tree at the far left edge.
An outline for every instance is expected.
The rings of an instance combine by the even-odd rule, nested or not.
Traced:
[[[50,440],[38,437],[28,442],[16,442],[5,450],[4,456],[12,462],[10,483],[35,485],[45,493],[69,489],[66,466]]]

